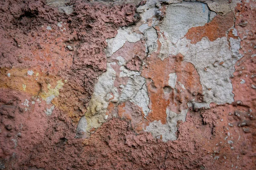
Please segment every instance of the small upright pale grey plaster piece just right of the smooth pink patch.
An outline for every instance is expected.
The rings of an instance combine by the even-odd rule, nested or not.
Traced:
[[[157,52],[157,30],[151,27],[144,31],[144,35],[146,37],[146,53],[152,54],[153,52]]]

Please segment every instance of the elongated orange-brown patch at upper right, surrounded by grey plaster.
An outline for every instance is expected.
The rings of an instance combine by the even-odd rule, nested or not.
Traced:
[[[185,37],[195,44],[203,37],[208,37],[210,41],[217,38],[225,37],[226,31],[234,25],[234,14],[229,12],[224,16],[217,15],[210,23],[204,26],[192,27],[189,29]]]

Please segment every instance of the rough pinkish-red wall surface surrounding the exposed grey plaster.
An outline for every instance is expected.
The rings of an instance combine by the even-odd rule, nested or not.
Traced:
[[[74,12],[66,15],[43,0],[0,2],[0,169],[256,169],[256,57],[251,57],[256,54],[255,2],[243,1],[236,8],[235,28],[244,57],[231,78],[235,102],[212,104],[208,110],[189,108],[186,122],[178,124],[177,140],[166,143],[136,130],[136,121],[143,118],[130,119],[139,110],[132,103],[124,106],[130,110],[119,118],[110,115],[112,119],[89,139],[75,138],[97,77],[106,70],[106,39],[115,37],[119,27],[136,23],[138,15],[137,4],[71,3]],[[58,22],[63,22],[61,28]],[[108,60],[125,53],[125,67],[140,71],[143,43],[126,43]],[[40,73],[27,84],[31,91],[22,90],[24,77],[29,77],[24,70]],[[10,71],[15,83],[6,76]],[[32,96],[49,82],[55,87],[59,79],[68,81],[47,116],[50,105]],[[115,84],[122,81],[116,79]],[[28,111],[22,105],[26,99],[35,100]],[[225,139],[230,135],[233,143]]]

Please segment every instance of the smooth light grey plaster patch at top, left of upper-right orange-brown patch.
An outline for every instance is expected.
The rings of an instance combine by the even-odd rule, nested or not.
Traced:
[[[209,8],[204,3],[179,3],[169,5],[160,25],[161,32],[172,43],[184,37],[189,28],[204,26],[209,20]]]

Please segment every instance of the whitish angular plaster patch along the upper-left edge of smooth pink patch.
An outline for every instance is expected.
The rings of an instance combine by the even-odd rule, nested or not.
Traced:
[[[106,56],[111,57],[111,55],[119,50],[126,41],[135,43],[141,38],[142,35],[132,31],[131,27],[119,28],[119,30],[117,30],[116,37],[107,39],[108,47],[106,49]]]

